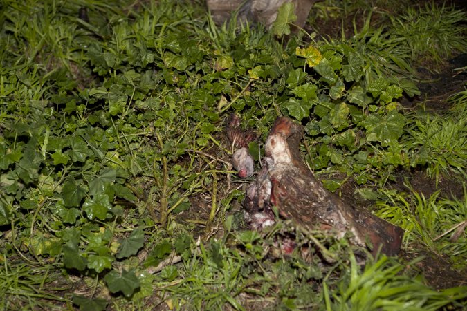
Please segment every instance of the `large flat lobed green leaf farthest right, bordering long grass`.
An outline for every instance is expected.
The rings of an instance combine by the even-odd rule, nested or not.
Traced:
[[[370,135],[369,140],[381,142],[381,146],[386,147],[397,142],[401,137],[403,127],[405,125],[405,117],[396,111],[390,111],[388,115],[369,115],[367,120],[363,122],[363,126],[367,129]]]

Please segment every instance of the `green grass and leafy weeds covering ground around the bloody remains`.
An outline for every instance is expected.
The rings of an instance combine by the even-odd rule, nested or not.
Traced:
[[[398,102],[419,92],[412,66],[427,52],[398,39],[393,23],[416,12],[378,27],[375,12],[365,13],[351,39],[310,44],[303,33],[275,37],[287,32],[288,17],[280,16],[275,35],[237,23],[219,28],[203,3],[190,3],[3,1],[0,308],[465,303],[465,288],[435,291],[394,258],[360,267],[346,238],[282,220],[244,231],[243,181],[223,138],[226,117],[239,113],[259,134],[251,148],[259,158],[277,116],[301,122],[316,175],[345,176],[326,187],[353,179],[380,191],[386,200],[375,213],[405,229],[407,252],[423,247],[463,267],[465,234],[450,239],[466,202],[386,188],[401,169],[466,176],[465,92],[441,116],[407,113]],[[461,14],[441,12],[450,21]],[[443,32],[446,42],[460,35]],[[284,237],[300,245],[291,256],[277,246]]]

